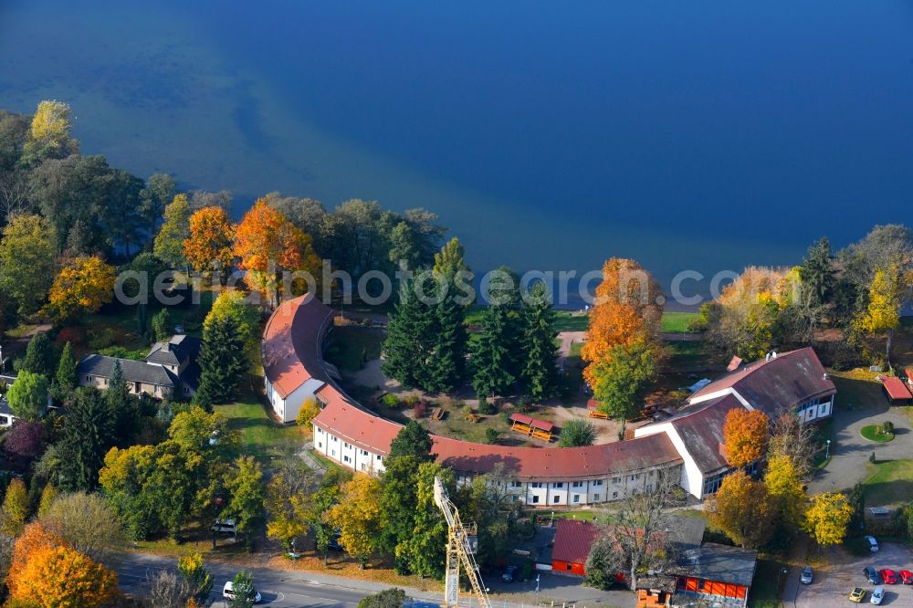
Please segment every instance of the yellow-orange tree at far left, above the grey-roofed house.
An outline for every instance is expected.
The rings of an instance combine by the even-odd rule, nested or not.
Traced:
[[[95,312],[114,295],[114,267],[98,256],[79,256],[63,267],[51,285],[47,313],[68,320]]]

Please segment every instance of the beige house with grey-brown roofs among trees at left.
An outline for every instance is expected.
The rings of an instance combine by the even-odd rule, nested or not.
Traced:
[[[175,335],[169,341],[156,342],[143,361],[90,354],[77,367],[79,385],[107,388],[114,362],[121,362],[123,379],[131,393],[145,393],[156,399],[189,399],[196,393],[200,379],[196,364],[200,346],[199,338]]]

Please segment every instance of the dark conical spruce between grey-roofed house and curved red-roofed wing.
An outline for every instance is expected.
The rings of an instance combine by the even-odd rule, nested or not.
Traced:
[[[215,319],[203,332],[200,350],[199,390],[213,403],[235,397],[238,383],[247,372],[245,340],[233,317]]]

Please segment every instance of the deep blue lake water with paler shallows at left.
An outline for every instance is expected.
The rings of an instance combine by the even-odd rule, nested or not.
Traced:
[[[2,0],[0,107],[184,187],[441,215],[474,267],[660,278],[908,221],[900,0]]]

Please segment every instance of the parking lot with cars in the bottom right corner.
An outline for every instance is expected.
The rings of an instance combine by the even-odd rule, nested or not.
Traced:
[[[826,565],[815,569],[812,584],[800,585],[796,595],[796,608],[852,605],[849,594],[854,587],[866,590],[866,599],[863,603],[868,604],[875,585],[866,582],[863,576],[862,571],[866,566],[874,566],[876,570],[889,568],[895,572],[913,571],[913,551],[908,547],[893,542],[879,544],[881,550],[865,557],[850,555],[842,548],[825,550]],[[913,608],[913,585],[882,586],[885,588],[885,600],[882,605]]]

